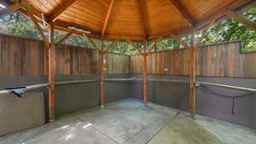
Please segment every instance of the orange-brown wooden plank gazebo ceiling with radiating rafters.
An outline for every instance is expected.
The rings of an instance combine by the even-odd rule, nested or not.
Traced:
[[[250,0],[27,0],[47,21],[107,39],[184,34]]]

